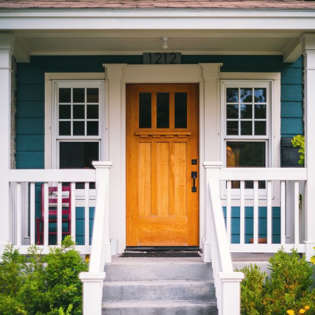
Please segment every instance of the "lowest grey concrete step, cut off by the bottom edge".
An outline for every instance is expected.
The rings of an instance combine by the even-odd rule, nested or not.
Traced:
[[[218,315],[215,302],[129,301],[103,303],[102,315]]]

